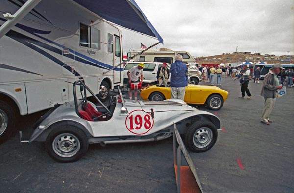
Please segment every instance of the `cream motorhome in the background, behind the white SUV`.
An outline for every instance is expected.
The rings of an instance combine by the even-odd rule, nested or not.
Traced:
[[[139,50],[134,50],[127,53],[127,58],[134,57],[138,54]],[[185,51],[173,51],[168,48],[160,48],[160,50],[149,50],[133,58],[135,61],[141,62],[165,62],[172,64],[175,61],[175,56],[181,54],[183,56],[182,62],[189,64],[191,67],[195,66],[195,59],[191,56],[189,52]]]

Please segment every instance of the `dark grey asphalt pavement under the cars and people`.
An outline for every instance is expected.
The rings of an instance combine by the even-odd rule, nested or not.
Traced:
[[[216,84],[216,82],[215,82]],[[250,81],[251,99],[239,99],[240,84],[222,78],[229,97],[218,111],[215,146],[190,152],[204,192],[294,192],[294,88],[277,98],[270,126],[260,123],[262,82]],[[200,82],[200,85],[208,83]],[[24,138],[43,112],[24,116]],[[1,193],[172,193],[176,192],[172,138],[148,143],[93,144],[74,163],[58,163],[42,143],[21,144],[18,134],[0,145]]]

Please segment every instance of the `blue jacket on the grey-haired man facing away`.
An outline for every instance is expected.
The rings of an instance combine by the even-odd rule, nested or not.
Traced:
[[[188,85],[188,68],[180,60],[176,60],[171,65],[171,86],[176,88]]]

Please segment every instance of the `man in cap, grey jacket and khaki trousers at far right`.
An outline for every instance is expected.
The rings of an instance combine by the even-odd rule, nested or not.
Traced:
[[[265,98],[264,107],[262,110],[262,118],[261,122],[267,125],[270,125],[272,120],[269,119],[270,114],[273,110],[275,100],[276,100],[276,90],[282,89],[280,86],[277,74],[280,73],[282,64],[273,64],[272,68],[270,68],[269,73],[265,76],[261,88],[260,95]]]

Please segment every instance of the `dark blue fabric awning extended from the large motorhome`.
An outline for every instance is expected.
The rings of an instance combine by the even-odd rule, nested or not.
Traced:
[[[134,0],[73,0],[107,21],[125,28],[163,39]]]

